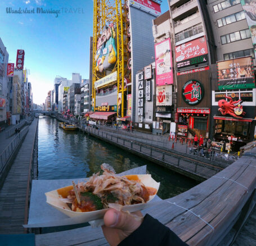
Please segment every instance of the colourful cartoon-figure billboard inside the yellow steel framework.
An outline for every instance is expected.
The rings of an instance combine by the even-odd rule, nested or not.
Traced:
[[[105,26],[97,41],[96,71],[111,70],[115,66],[117,55],[115,38],[114,25]]]

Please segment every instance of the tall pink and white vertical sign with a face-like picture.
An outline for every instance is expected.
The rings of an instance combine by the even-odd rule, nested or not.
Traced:
[[[156,86],[173,84],[170,38],[155,44]]]

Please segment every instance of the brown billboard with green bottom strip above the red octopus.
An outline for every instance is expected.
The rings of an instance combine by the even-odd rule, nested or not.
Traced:
[[[252,57],[235,58],[217,62],[218,89],[254,88]]]

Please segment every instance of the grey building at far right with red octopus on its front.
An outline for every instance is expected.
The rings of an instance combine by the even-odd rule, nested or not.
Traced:
[[[207,5],[217,57],[212,67],[211,136],[217,142],[232,142],[235,151],[256,133],[256,40],[251,37],[256,21],[244,6],[248,7],[239,0],[209,0]]]

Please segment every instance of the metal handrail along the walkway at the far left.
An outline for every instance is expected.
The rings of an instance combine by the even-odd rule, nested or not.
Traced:
[[[0,174],[3,171],[3,168],[6,166],[6,163],[8,162],[11,155],[16,150],[17,145],[21,142],[21,139],[28,133],[29,127],[26,126],[23,130],[21,130],[20,133],[17,133],[17,136],[11,141],[10,144],[7,145],[7,147],[2,151],[0,154]]]

